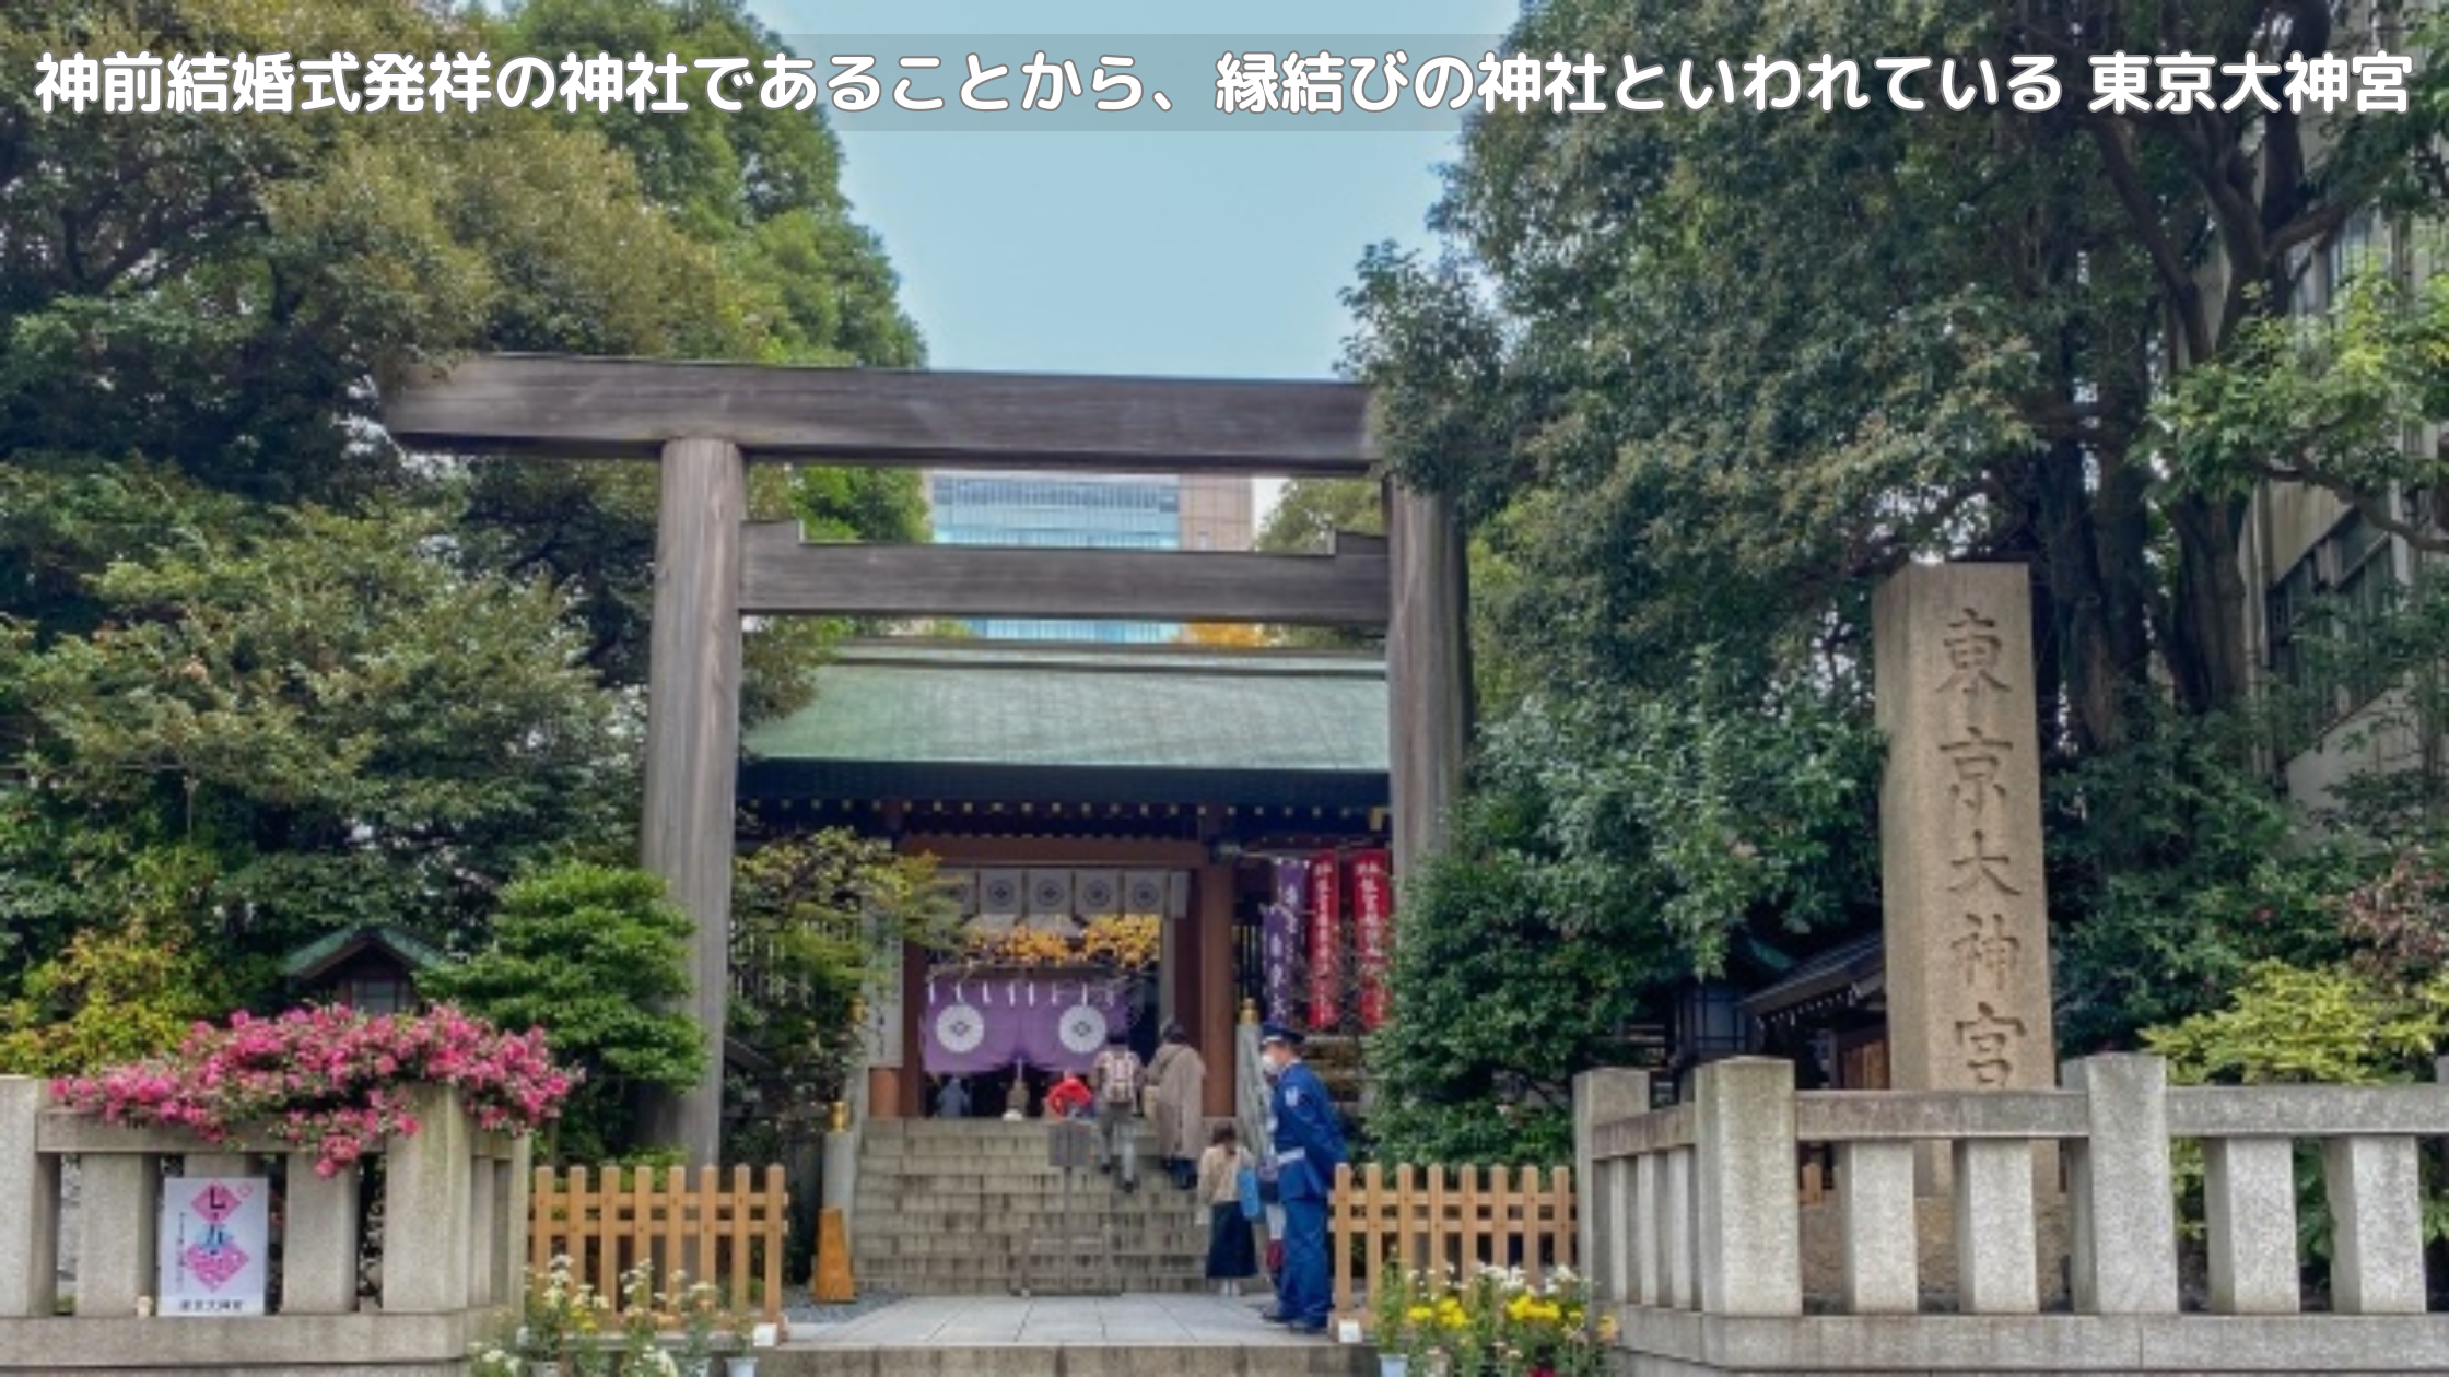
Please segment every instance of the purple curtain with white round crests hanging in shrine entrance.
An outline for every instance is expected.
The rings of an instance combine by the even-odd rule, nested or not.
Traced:
[[[1129,980],[938,975],[918,1022],[928,1076],[982,1076],[1024,1063],[1087,1071],[1112,1029],[1131,1027]]]

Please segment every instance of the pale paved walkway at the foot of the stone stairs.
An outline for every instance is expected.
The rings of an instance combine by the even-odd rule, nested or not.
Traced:
[[[791,1326],[789,1348],[1330,1348],[1244,1296],[913,1296],[847,1323]]]

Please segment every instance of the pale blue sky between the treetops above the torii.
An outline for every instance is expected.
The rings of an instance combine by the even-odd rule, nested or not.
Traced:
[[[1002,47],[1100,34],[1124,54],[1131,37],[1244,34],[1249,49],[1281,54],[1300,34],[1489,42],[1518,12],[1516,0],[752,5],[808,56],[864,51],[833,47],[840,37],[933,34],[928,51],[948,69],[962,66],[960,42],[975,34],[1011,37]],[[901,56],[872,47],[879,66]],[[1207,108],[1212,76],[1205,91],[1171,96],[1178,108]],[[972,118],[874,130],[842,118],[838,130],[845,189],[860,221],[884,235],[933,368],[1327,377],[1349,333],[1337,292],[1362,247],[1425,240],[1433,167],[1455,149],[1460,115],[1408,123],[1420,127],[1090,132],[1021,120],[977,127]]]

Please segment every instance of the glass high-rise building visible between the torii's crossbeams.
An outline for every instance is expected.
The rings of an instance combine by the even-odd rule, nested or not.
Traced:
[[[1073,473],[928,475],[928,512],[938,544],[1041,549],[1249,549],[1249,478],[1173,478]],[[989,639],[1168,642],[1171,622],[1056,622],[989,617],[970,622]]]

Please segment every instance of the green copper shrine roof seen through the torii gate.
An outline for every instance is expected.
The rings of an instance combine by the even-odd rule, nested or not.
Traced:
[[[1371,654],[852,642],[752,757],[877,764],[1386,772]]]

